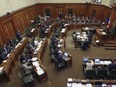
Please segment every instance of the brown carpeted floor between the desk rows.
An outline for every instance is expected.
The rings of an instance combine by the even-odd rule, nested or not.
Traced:
[[[49,49],[46,48],[46,52],[43,57],[43,64],[47,69],[48,80],[44,82],[39,82],[37,79],[35,79],[34,87],[66,87],[67,78],[69,77],[77,78],[77,79],[85,79],[82,71],[83,57],[90,57],[90,58],[99,57],[104,59],[116,58],[115,50],[105,50],[104,47],[94,47],[92,44],[87,51],[82,51],[78,48],[75,49],[71,36],[73,31],[74,30],[68,31],[66,37],[66,51],[72,55],[72,66],[58,71],[55,68],[54,63],[51,63],[49,56]],[[11,81],[0,83],[0,87],[24,87],[24,84],[22,83],[18,75],[19,71],[20,71],[20,66],[17,63],[17,66],[14,68],[13,73],[11,75]]]

